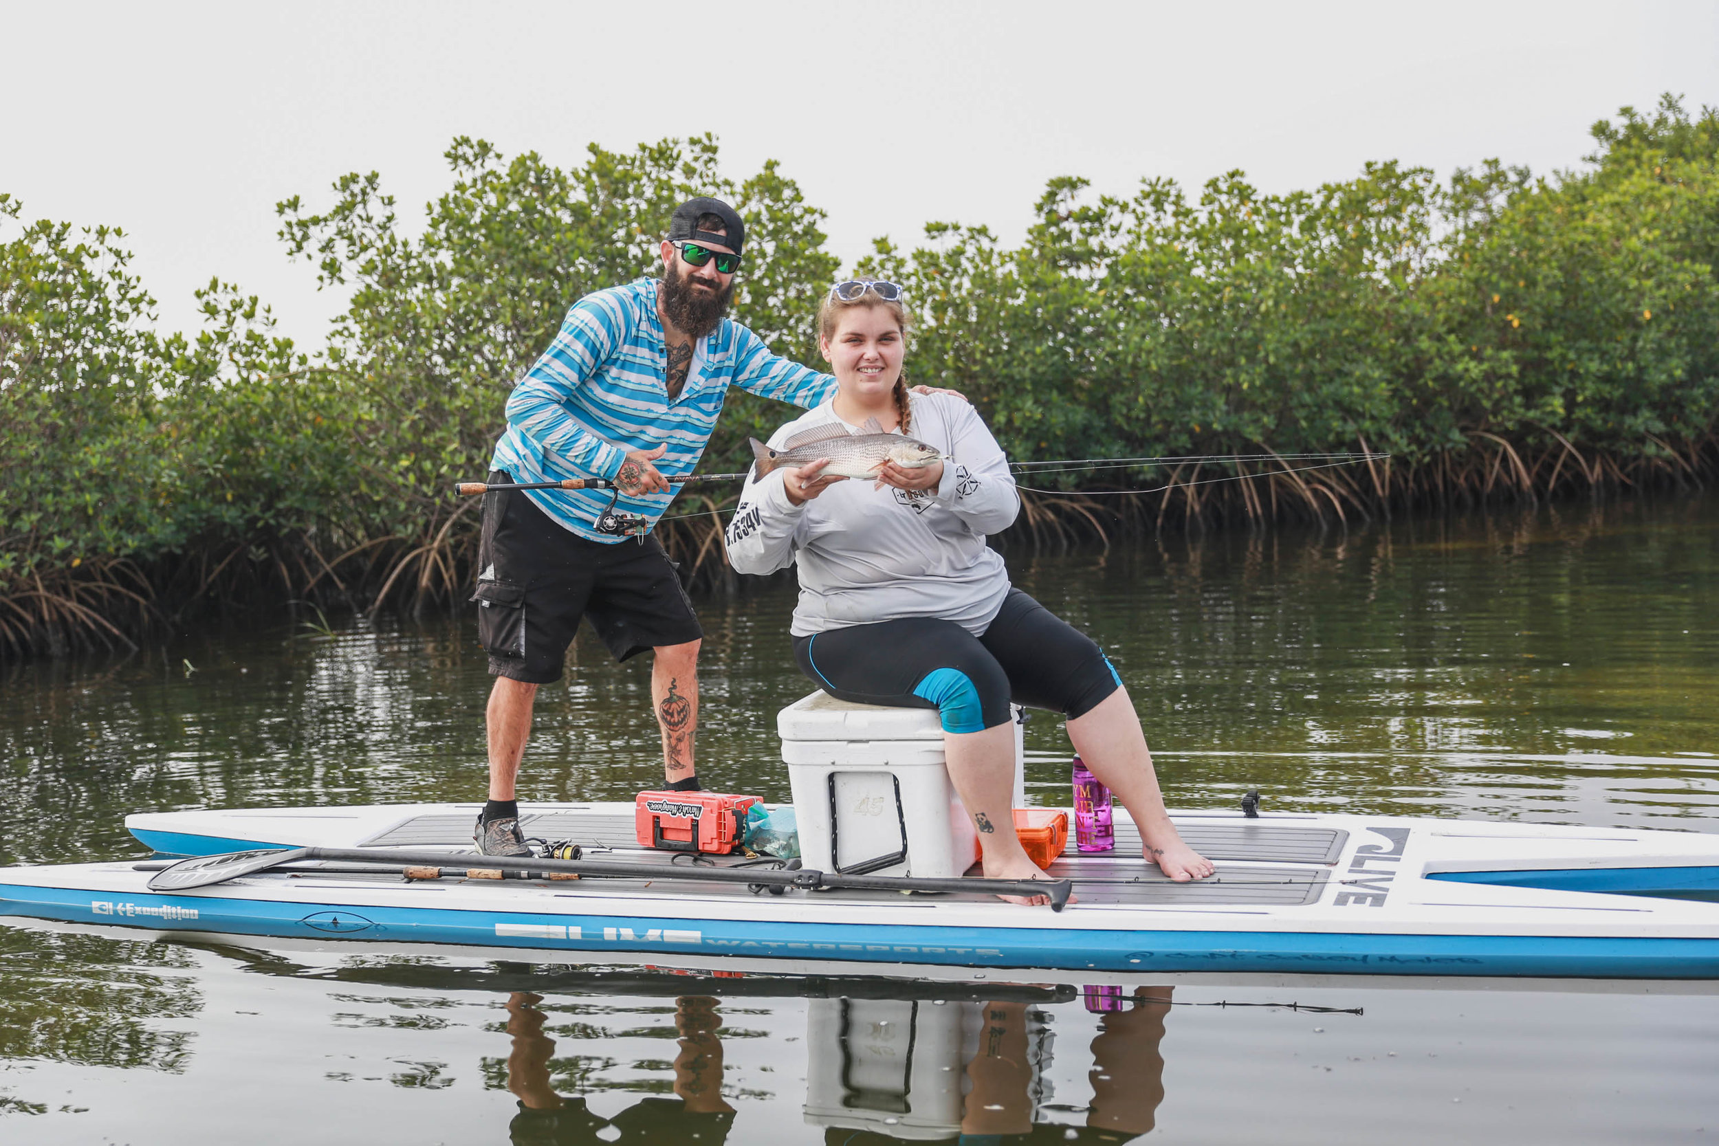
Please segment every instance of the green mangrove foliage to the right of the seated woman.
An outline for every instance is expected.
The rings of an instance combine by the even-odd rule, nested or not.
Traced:
[[[863,270],[918,301],[916,380],[978,400],[1014,457],[1705,443],[1719,120],[1667,98],[1594,134],[1592,170],[1542,180],[1370,163],[1312,192],[1231,172],[1095,203],[1054,180],[1018,251],[937,223]]]

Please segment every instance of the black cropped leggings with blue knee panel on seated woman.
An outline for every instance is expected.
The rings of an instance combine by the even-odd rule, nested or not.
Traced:
[[[794,637],[794,658],[837,699],[935,708],[944,732],[1007,723],[1009,701],[1073,720],[1123,687],[1092,637],[1019,589],[982,637],[952,620],[906,617]]]

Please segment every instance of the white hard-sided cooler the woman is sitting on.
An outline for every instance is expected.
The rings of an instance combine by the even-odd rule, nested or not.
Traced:
[[[935,708],[851,704],[813,692],[777,713],[806,868],[849,875],[959,876],[978,833],[944,768]],[[1026,804],[1021,710],[1014,797]]]

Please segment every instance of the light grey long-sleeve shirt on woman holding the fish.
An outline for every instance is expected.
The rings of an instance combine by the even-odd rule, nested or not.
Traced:
[[[1002,608],[1009,572],[985,534],[1021,510],[1009,459],[964,400],[909,400],[909,436],[947,459],[935,490],[873,490],[873,481],[849,478],[794,505],[775,469],[741,491],[727,529],[729,562],[749,574],[798,562],[794,636],[901,617],[942,617],[980,636]],[[841,424],[829,402],[777,430],[770,445],[825,423]]]

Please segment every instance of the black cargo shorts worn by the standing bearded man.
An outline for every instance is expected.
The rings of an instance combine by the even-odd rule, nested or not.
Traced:
[[[497,483],[512,478],[492,472],[490,485]],[[655,536],[646,534],[643,545],[638,538],[590,541],[555,524],[519,490],[483,495],[471,600],[490,675],[526,684],[560,680],[581,617],[615,660],[705,636]]]

